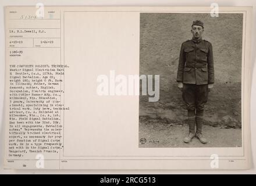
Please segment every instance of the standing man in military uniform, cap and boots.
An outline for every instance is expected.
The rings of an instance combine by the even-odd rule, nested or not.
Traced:
[[[214,58],[211,42],[202,40],[204,23],[200,20],[194,21],[191,33],[192,40],[183,42],[180,49],[177,70],[178,87],[182,89],[189,124],[189,135],[184,138],[184,142],[188,143],[193,137],[197,137],[205,144],[207,139],[202,135],[202,121],[208,91],[214,87]]]

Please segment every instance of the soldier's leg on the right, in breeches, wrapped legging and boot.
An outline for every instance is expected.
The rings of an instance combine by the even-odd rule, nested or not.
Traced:
[[[208,85],[197,85],[197,94],[196,94],[196,137],[203,144],[207,143],[207,139],[202,135],[202,125],[204,123],[204,105],[208,101]]]

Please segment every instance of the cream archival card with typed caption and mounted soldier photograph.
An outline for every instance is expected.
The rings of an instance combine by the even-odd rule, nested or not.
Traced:
[[[252,6],[3,10],[6,173],[253,167]]]

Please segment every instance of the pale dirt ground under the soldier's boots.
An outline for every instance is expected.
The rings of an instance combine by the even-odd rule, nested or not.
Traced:
[[[175,147],[239,147],[241,146],[240,128],[203,126],[207,144],[201,144],[197,138],[186,144],[183,138],[188,134],[187,124],[159,124],[140,122],[140,148],[175,148]]]

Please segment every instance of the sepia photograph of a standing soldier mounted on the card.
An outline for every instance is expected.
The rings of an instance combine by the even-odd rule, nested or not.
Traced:
[[[140,13],[140,148],[241,147],[242,13]]]

